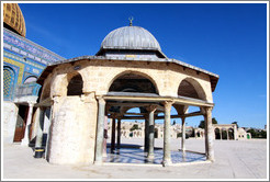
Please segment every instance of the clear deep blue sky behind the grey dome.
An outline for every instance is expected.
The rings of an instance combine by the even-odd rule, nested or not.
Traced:
[[[267,4],[20,3],[26,37],[72,58],[94,55],[111,31],[148,30],[169,58],[220,75],[213,117],[221,124],[267,124]],[[203,117],[189,118],[198,126]],[[179,121],[177,121],[179,122]]]

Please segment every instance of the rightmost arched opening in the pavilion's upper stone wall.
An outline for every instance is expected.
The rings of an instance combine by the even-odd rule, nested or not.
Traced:
[[[206,101],[206,94],[202,86],[193,78],[187,77],[178,87],[178,95]]]

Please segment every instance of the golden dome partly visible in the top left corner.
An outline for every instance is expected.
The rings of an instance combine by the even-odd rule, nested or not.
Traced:
[[[3,3],[3,26],[25,37],[24,18],[18,3]]]

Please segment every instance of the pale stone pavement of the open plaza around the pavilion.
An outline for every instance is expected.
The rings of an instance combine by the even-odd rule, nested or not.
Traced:
[[[180,138],[171,139],[171,149],[180,148]],[[204,152],[203,139],[187,139],[187,150]],[[122,144],[142,145],[142,138]],[[155,147],[162,140],[156,139]],[[33,158],[33,150],[20,145],[3,145],[2,180],[7,179],[265,179],[268,177],[267,140],[215,140],[215,162],[161,167],[159,164],[57,166]],[[269,180],[269,179],[268,179]]]

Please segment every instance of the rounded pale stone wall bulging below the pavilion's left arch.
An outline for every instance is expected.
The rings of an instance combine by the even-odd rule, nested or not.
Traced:
[[[48,160],[57,164],[90,164],[94,159],[97,101],[64,96],[54,103]]]

